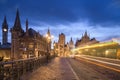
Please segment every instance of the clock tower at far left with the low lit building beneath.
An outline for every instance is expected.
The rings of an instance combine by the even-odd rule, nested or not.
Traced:
[[[4,59],[10,59],[11,55],[11,43],[8,42],[8,24],[6,16],[2,23],[2,44],[0,43],[0,57]]]

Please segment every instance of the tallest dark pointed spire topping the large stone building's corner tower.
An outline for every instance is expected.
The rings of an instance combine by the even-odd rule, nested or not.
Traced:
[[[15,29],[15,30],[22,30],[18,8],[17,8],[17,12],[16,12],[16,18],[15,18],[15,23],[14,23],[13,29]]]

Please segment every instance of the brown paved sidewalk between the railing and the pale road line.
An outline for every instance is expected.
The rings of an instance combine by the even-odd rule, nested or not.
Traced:
[[[24,75],[21,80],[76,80],[65,58],[57,57],[49,64]]]

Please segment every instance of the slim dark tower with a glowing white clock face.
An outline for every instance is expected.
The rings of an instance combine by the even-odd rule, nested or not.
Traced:
[[[2,44],[3,45],[7,44],[7,42],[8,42],[8,24],[5,16],[2,24]]]

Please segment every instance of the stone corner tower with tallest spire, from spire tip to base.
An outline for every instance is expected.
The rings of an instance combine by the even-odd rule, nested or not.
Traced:
[[[11,58],[12,59],[19,59],[19,45],[20,45],[20,37],[23,35],[24,31],[21,27],[20,23],[20,17],[19,17],[19,11],[17,9],[16,12],[16,18],[14,26],[11,28],[11,40],[12,40],[12,46],[11,46]]]

